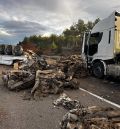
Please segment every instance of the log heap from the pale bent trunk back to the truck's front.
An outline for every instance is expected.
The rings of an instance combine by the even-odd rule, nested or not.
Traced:
[[[50,61],[49,61],[50,62]],[[32,95],[58,94],[65,88],[78,89],[78,78],[87,76],[85,63],[81,56],[72,55],[61,57],[54,68],[36,72],[35,85],[31,90]]]

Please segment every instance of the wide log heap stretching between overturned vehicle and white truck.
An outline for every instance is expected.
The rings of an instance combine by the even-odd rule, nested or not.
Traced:
[[[52,67],[52,64],[47,64],[47,59],[30,50],[26,56],[28,59],[19,62],[16,71],[3,74],[5,85],[10,90],[25,89],[32,85],[32,95],[58,94],[65,88],[78,89],[78,78],[88,75],[85,63],[79,55],[61,57]]]

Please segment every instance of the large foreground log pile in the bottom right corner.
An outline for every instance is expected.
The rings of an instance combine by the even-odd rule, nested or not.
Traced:
[[[96,106],[79,107],[65,114],[61,129],[120,129],[120,111]]]

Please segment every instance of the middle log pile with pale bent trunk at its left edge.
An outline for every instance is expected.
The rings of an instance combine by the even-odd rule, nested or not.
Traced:
[[[65,88],[78,88],[76,79],[66,80],[64,72],[61,70],[38,70],[36,72],[35,85],[31,94],[59,94]]]

